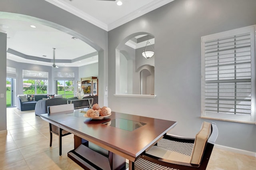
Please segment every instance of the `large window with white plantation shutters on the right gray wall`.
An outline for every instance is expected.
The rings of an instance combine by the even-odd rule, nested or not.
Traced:
[[[202,117],[255,123],[254,32],[202,37]]]

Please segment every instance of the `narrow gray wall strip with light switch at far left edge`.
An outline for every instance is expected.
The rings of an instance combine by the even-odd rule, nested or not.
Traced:
[[[0,98],[0,132],[6,130],[6,38],[7,34],[0,32],[0,93],[4,94]]]

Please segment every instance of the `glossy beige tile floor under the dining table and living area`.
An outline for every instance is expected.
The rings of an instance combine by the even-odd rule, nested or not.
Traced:
[[[58,136],[49,146],[49,124],[34,111],[7,108],[8,134],[0,134],[0,170],[81,170],[67,157],[74,148],[73,135],[62,138],[59,156]],[[256,158],[214,148],[207,170],[256,170]]]

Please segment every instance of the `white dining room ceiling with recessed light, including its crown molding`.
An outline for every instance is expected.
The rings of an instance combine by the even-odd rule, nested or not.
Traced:
[[[106,31],[174,0],[45,0]],[[116,2],[121,1],[122,6]]]

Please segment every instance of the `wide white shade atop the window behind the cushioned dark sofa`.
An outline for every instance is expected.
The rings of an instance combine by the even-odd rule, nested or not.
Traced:
[[[23,70],[23,79],[48,80],[48,72]]]

